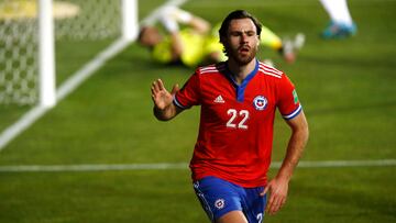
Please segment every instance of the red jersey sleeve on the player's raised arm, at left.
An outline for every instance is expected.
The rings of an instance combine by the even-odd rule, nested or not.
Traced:
[[[183,88],[177,91],[174,97],[174,104],[180,109],[189,109],[193,105],[198,105],[199,102],[199,75],[196,71],[183,86]]]

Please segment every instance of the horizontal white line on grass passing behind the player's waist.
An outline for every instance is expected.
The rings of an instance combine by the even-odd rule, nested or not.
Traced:
[[[338,168],[338,167],[389,167],[396,166],[396,159],[378,160],[322,160],[300,161],[298,168]],[[279,168],[274,161],[271,168]],[[167,170],[188,169],[187,163],[160,164],[81,164],[81,165],[15,165],[0,166],[0,172],[59,172],[59,171],[112,171],[112,170]]]

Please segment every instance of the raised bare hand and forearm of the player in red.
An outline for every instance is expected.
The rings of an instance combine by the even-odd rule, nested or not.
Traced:
[[[175,107],[173,97],[178,91],[176,83],[168,92],[161,79],[155,80],[151,87],[152,99],[154,102],[154,116],[161,121],[168,121],[180,113],[183,110]]]

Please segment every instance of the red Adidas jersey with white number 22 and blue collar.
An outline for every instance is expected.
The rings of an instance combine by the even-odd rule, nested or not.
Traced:
[[[180,109],[201,105],[194,180],[215,176],[245,188],[266,185],[275,110],[293,119],[301,105],[284,73],[256,62],[241,85],[226,63],[198,68],[174,97]]]

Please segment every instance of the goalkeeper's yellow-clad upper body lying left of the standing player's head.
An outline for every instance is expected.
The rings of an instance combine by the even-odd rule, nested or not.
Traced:
[[[151,49],[154,60],[188,67],[226,60],[222,45],[211,35],[211,26],[204,19],[176,7],[164,7],[157,20],[168,35],[154,25],[144,25],[139,34],[139,43]]]

